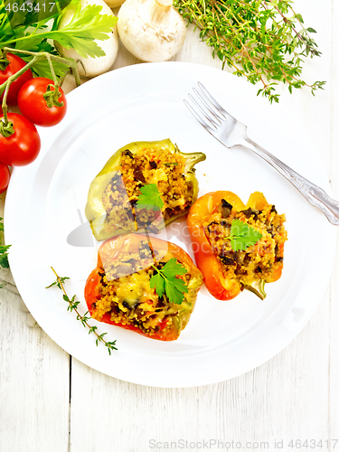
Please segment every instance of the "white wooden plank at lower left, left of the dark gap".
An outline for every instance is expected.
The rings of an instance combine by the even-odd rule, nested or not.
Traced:
[[[67,452],[70,357],[27,325],[19,296],[0,299],[0,450]]]

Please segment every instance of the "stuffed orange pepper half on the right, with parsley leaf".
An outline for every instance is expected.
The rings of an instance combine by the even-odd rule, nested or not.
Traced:
[[[245,205],[234,193],[204,194],[188,214],[196,265],[211,295],[231,300],[243,289],[266,297],[265,283],[281,276],[287,231],[262,193]]]

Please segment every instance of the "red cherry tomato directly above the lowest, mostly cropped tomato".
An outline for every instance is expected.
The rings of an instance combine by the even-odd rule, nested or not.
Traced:
[[[24,166],[35,160],[40,151],[40,137],[33,123],[17,113],[8,113],[13,122],[14,134],[0,134],[0,162],[10,166]]]

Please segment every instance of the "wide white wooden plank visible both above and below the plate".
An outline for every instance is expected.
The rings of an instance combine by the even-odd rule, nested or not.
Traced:
[[[315,2],[297,0],[295,6],[297,12],[304,15],[307,26],[314,26],[321,32],[316,39],[320,42],[323,56],[321,60],[307,62],[305,76],[310,80],[329,80],[333,54],[331,25],[328,21],[325,25],[325,18],[331,16],[332,6],[322,5],[321,15]],[[333,23],[338,19],[336,13]],[[189,33],[186,44],[176,56],[177,61],[220,67],[220,62],[212,59],[211,50],[199,42],[196,34]],[[121,56],[120,63],[123,62]],[[332,129],[327,120],[331,114],[331,80],[328,86],[329,89],[317,93],[315,98],[306,90],[295,91],[293,96],[286,93],[279,106],[272,108],[286,108],[291,120],[312,134],[329,170]],[[286,90],[280,91],[284,93]],[[314,108],[321,114],[315,115]],[[338,296],[336,291],[333,303],[334,297],[337,302]],[[102,375],[73,360],[71,452],[86,447],[92,452],[146,451],[151,439],[164,443],[181,438],[195,443],[210,439],[233,440],[242,445],[247,441],[268,441],[269,450],[273,449],[275,440],[283,440],[284,450],[287,450],[291,439],[329,438],[330,318],[328,289],[308,325],[285,350],[238,378],[200,388],[142,387]],[[338,320],[336,313],[331,320],[333,328]],[[337,381],[336,373],[335,376]],[[85,411],[92,412],[92,415],[83,415]],[[333,422],[334,428],[337,428],[337,420]],[[81,431],[87,432],[86,437],[81,435]],[[254,445],[246,450],[261,449]]]

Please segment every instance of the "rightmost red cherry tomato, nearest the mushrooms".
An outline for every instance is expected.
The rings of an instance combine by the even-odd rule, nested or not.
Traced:
[[[49,85],[53,85],[51,88],[51,93],[53,93],[53,80],[45,79],[44,77],[37,77],[26,81],[22,89],[20,89],[18,95],[18,105],[21,112],[26,118],[30,119],[37,126],[55,126],[66,115],[66,96],[60,87],[58,92],[61,96],[58,99],[58,102],[63,102],[62,107],[58,107],[55,104],[52,104],[52,107],[47,106],[43,95],[46,93],[46,89]]]

